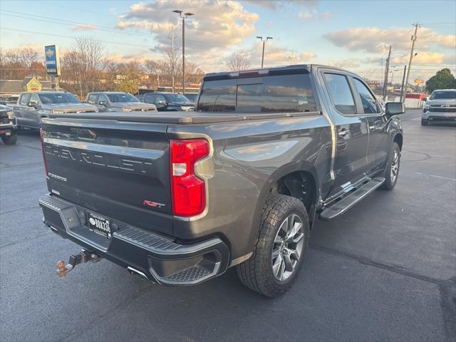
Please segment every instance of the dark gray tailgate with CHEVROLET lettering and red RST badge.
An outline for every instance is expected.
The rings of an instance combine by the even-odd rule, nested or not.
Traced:
[[[44,118],[49,191],[120,222],[172,234],[165,123]]]

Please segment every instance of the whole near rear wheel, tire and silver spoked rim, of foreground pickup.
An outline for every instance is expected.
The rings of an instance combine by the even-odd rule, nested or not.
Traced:
[[[289,289],[309,244],[306,207],[295,197],[269,195],[261,214],[254,254],[237,266],[242,284],[264,296]]]

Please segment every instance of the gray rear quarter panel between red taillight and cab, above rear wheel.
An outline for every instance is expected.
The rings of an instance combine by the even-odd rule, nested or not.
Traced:
[[[197,165],[207,181],[207,209],[196,218],[175,217],[175,236],[222,236],[231,244],[232,259],[252,252],[264,200],[281,177],[298,170],[311,172],[316,199],[331,186],[331,126],[323,115],[169,125],[167,134],[207,138],[213,151]]]

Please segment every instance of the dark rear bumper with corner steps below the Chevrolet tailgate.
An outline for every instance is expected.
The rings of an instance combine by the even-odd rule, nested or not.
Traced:
[[[88,210],[56,196],[39,199],[44,224],[61,237],[159,284],[187,286],[218,276],[229,264],[229,248],[217,237],[178,244],[162,235],[110,219],[111,239],[85,226]]]

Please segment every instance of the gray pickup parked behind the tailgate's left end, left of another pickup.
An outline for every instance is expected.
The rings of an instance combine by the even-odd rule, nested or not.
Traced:
[[[20,128],[40,128],[41,118],[50,114],[96,112],[98,109],[95,106],[82,103],[66,91],[27,91],[21,93],[14,106]]]

